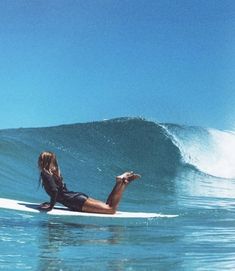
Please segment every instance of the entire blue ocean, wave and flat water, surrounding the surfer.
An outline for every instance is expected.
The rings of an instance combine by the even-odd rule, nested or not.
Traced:
[[[0,197],[48,200],[44,150],[70,190],[105,201],[133,170],[119,210],[178,216],[109,225],[0,209],[0,270],[235,270],[233,132],[141,118],[0,130]]]

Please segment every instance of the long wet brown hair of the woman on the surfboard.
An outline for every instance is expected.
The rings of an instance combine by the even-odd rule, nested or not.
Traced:
[[[40,153],[38,157],[38,168],[40,172],[46,170],[50,173],[53,173],[56,177],[61,177],[60,169],[56,159],[56,155],[50,151],[44,151]],[[39,186],[41,184],[41,174],[39,176]]]

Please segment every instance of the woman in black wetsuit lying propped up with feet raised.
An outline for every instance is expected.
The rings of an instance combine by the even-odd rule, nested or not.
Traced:
[[[38,158],[38,167],[40,170],[40,181],[51,198],[50,203],[40,205],[40,209],[44,211],[52,210],[56,202],[59,202],[74,211],[114,214],[126,186],[131,181],[140,177],[140,175],[133,172],[126,172],[117,176],[116,184],[107,202],[104,203],[92,199],[84,193],[68,191],[63,182],[63,177],[54,153],[42,152]]]

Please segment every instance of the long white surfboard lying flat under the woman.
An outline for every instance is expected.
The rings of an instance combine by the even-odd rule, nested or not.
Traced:
[[[28,213],[44,213],[43,211],[39,210],[38,203],[31,203],[31,202],[24,202],[6,198],[0,198],[0,208],[8,209],[8,210],[15,210],[21,212],[28,212]],[[97,214],[97,213],[85,213],[85,212],[77,212],[71,211],[66,207],[63,206],[55,206],[53,210],[46,212],[48,215],[52,216],[66,216],[66,217],[97,217],[97,218],[171,218],[176,217],[177,215],[165,215],[160,213],[144,213],[144,212],[121,212],[117,211],[114,215],[110,214]]]

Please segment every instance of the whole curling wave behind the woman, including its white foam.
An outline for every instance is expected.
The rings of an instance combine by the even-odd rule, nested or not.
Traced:
[[[114,176],[134,170],[143,178],[128,189],[126,202],[141,198],[142,203],[154,203],[155,198],[162,198],[168,206],[168,197],[179,192],[177,182],[182,183],[176,180],[186,174],[189,181],[195,174],[234,178],[233,146],[231,132],[138,118],[1,130],[2,196],[42,199],[44,191],[36,193],[37,158],[41,151],[50,150],[57,154],[71,190],[105,200]],[[147,204],[143,208],[149,210]]]

